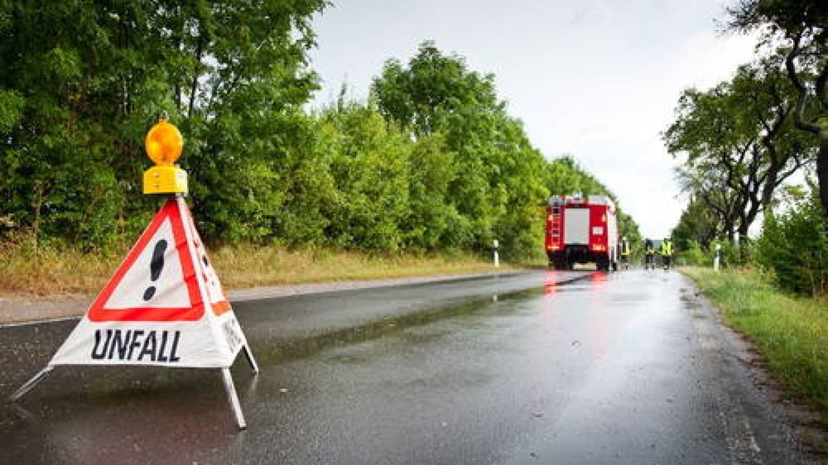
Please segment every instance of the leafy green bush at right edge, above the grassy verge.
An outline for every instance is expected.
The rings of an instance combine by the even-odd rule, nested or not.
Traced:
[[[816,189],[813,189],[816,190]],[[777,285],[801,294],[828,293],[828,226],[816,193],[793,199],[786,212],[768,212],[755,260]]]

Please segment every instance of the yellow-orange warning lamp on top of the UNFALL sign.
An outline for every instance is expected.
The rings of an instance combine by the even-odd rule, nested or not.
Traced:
[[[155,166],[144,171],[144,194],[186,194],[187,172],[173,165],[181,156],[184,139],[178,128],[162,117],[144,141]]]

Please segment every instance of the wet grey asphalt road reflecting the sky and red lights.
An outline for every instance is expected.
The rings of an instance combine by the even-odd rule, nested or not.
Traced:
[[[797,463],[676,272],[534,271],[234,304],[262,372],[57,367],[0,463]],[[74,321],[0,328],[0,395]]]

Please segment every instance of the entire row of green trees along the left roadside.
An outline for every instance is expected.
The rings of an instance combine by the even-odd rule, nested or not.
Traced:
[[[185,137],[211,242],[542,256],[550,194],[611,194],[549,161],[493,74],[426,41],[388,60],[366,101],[306,103],[324,0],[0,2],[0,234],[105,250],[157,207],[143,137]],[[623,227],[638,235],[632,218]]]

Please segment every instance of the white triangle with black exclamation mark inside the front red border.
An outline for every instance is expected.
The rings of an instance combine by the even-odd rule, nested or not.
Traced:
[[[171,219],[165,218],[103,309],[184,308],[190,304]]]

